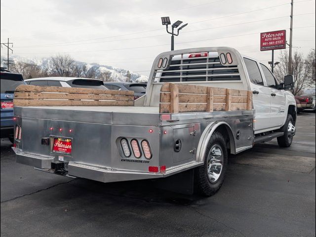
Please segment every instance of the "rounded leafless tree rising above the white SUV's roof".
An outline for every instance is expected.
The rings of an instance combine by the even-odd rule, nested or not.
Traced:
[[[60,77],[70,77],[75,68],[74,59],[68,55],[58,54],[51,57],[51,64],[55,71],[55,74]]]

